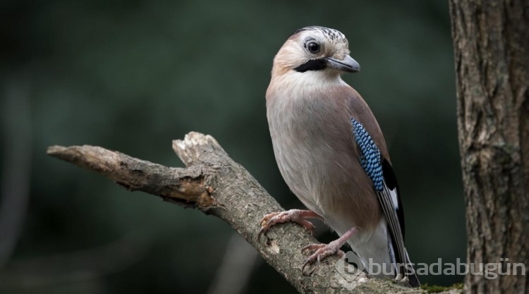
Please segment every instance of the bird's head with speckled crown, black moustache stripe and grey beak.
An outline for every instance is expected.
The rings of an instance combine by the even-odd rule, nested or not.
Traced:
[[[303,27],[288,37],[274,58],[272,75],[318,72],[336,76],[360,71],[346,37],[328,27]]]

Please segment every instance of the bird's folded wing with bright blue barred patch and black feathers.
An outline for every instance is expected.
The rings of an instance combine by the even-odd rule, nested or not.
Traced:
[[[358,145],[360,164],[372,180],[373,188],[377,192],[382,212],[386,216],[391,237],[392,259],[399,265],[409,264],[409,257],[404,247],[404,215],[399,196],[395,174],[391,164],[372,140],[372,137],[360,121],[351,118],[353,136]],[[400,271],[401,272],[401,271]],[[410,280],[413,277],[410,277]]]

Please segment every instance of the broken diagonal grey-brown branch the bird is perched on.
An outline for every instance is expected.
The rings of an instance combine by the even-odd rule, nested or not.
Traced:
[[[209,135],[189,133],[184,140],[175,140],[173,149],[186,164],[185,169],[87,145],[52,146],[48,154],[102,173],[128,190],[157,195],[224,219],[300,293],[422,293],[420,289],[403,288],[363,273],[347,274],[354,271],[350,266],[340,273],[335,267],[337,257],[324,259],[312,276],[303,276],[301,266],[306,256],[300,250],[317,240],[301,226],[284,223],[271,228],[258,242],[262,216],[284,209],[248,171],[236,164]],[[350,291],[338,278],[344,278],[355,288]]]

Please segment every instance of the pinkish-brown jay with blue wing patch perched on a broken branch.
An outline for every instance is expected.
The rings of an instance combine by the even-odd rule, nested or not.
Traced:
[[[265,215],[257,238],[287,221],[314,231],[308,219],[322,219],[339,238],[303,248],[313,252],[304,274],[324,257],[343,257],[340,248],[348,243],[367,274],[417,287],[384,135],[363,97],[341,78],[360,71],[350,53],[339,30],[310,26],[293,32],[274,57],[266,92],[274,156],[288,188],[308,210]],[[375,264],[390,270],[370,270]]]

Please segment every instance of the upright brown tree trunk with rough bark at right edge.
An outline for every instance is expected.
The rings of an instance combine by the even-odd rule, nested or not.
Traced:
[[[528,267],[529,2],[449,2],[467,261]],[[529,291],[519,273],[467,275],[465,285],[468,293]]]

